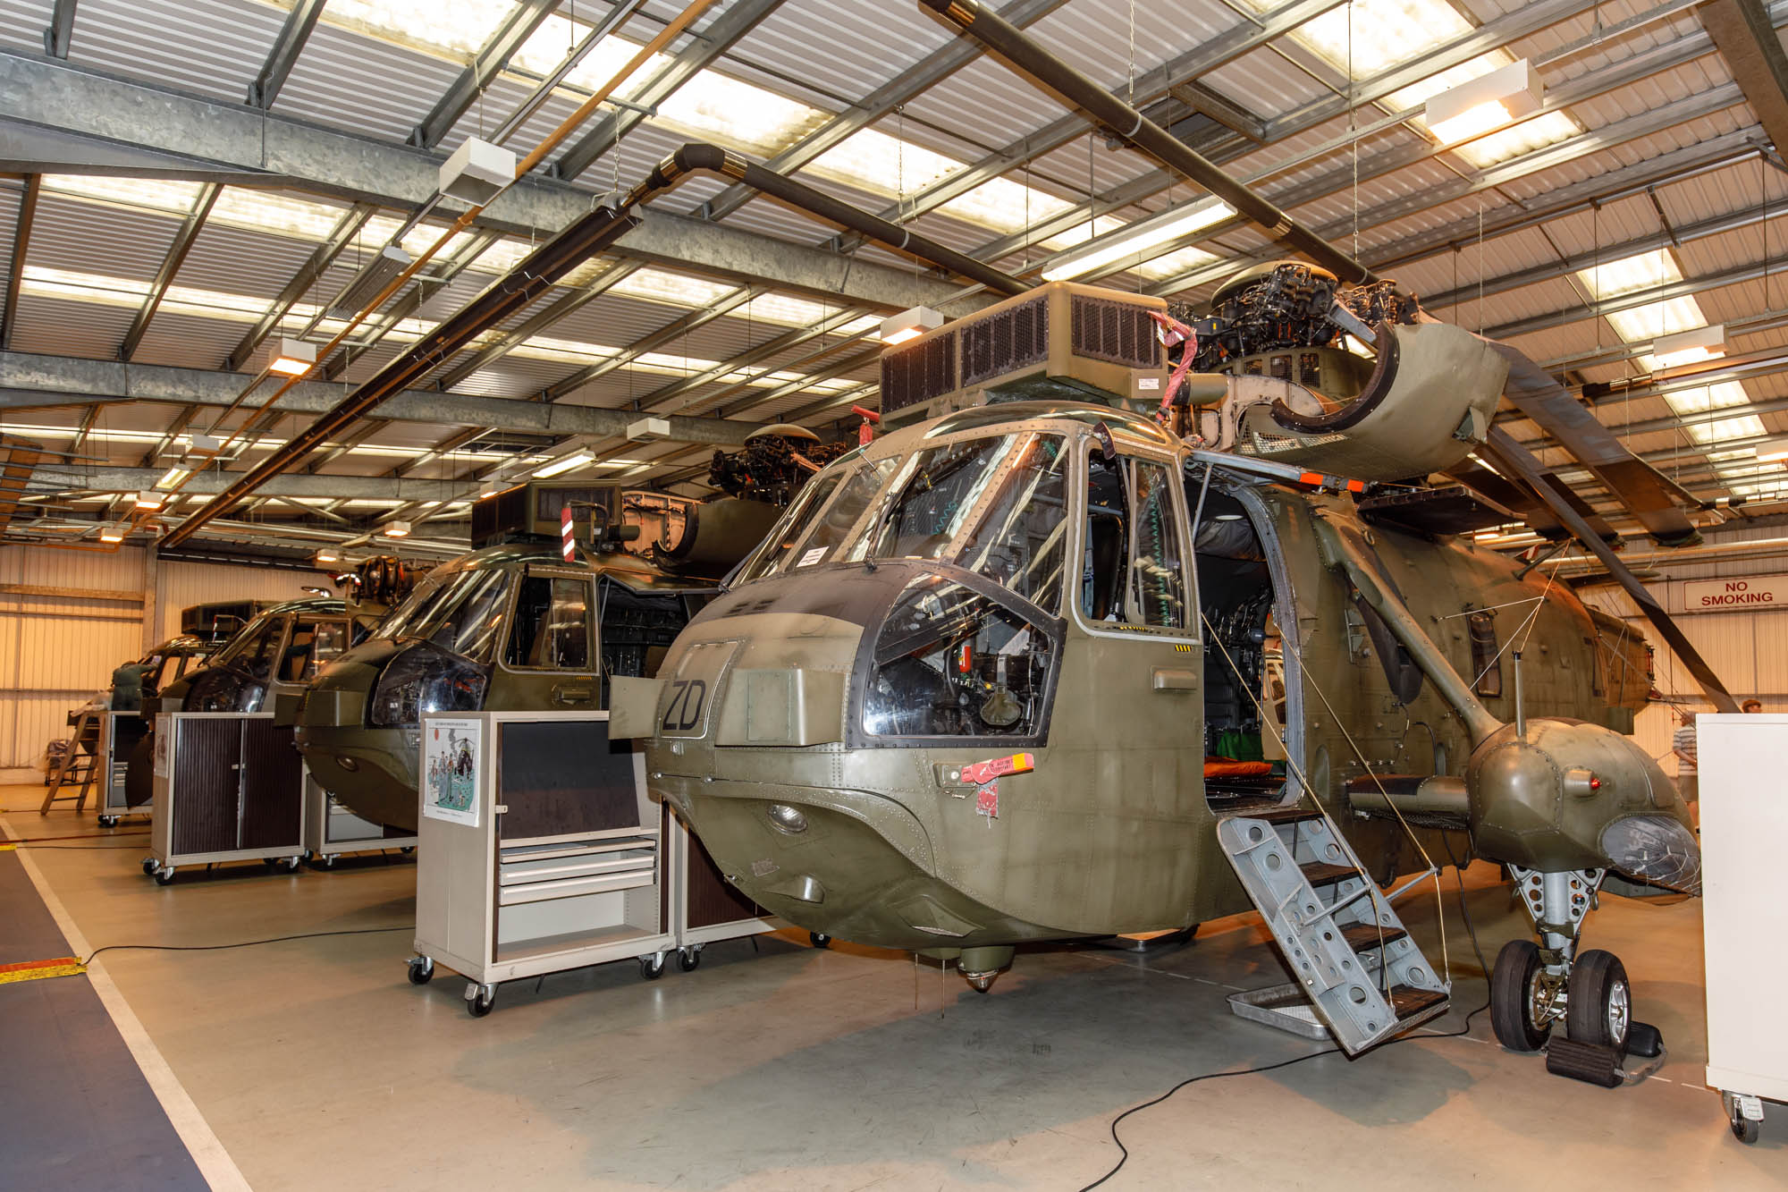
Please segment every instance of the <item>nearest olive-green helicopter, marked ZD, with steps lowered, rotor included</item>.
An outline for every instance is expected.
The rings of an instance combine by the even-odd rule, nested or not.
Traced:
[[[1606,1083],[1631,990],[1581,929],[1598,893],[1699,891],[1690,811],[1625,736],[1649,646],[1470,532],[1575,535],[1736,711],[1495,410],[1618,476],[1659,542],[1695,539],[1686,494],[985,7],[924,2],[1316,265],[1237,277],[1196,328],[1051,283],[890,349],[892,430],[806,485],[656,678],[615,680],[611,732],[815,934],[985,990],[1016,943],[1253,906],[1350,1054],[1446,1008],[1382,888],[1504,863],[1538,941],[1497,958],[1497,1036],[1563,1024],[1548,1065]]]

